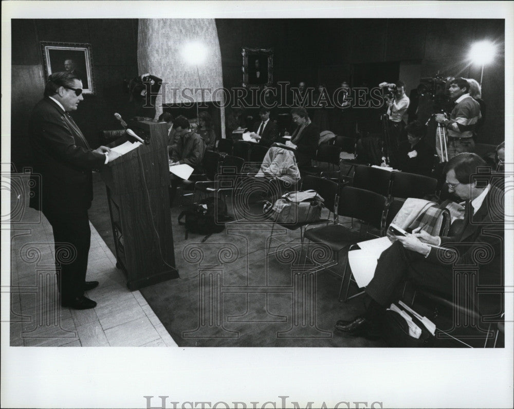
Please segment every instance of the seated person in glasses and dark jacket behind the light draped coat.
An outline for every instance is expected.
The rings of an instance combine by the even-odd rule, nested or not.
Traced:
[[[291,117],[297,127],[292,133],[291,140],[287,141],[286,145],[295,152],[296,161],[300,168],[309,166],[310,160],[316,157],[320,131],[315,124],[310,122],[305,108],[292,108]]]

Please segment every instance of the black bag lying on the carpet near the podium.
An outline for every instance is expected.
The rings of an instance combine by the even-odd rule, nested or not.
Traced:
[[[182,217],[186,216],[183,222]],[[221,199],[208,197],[192,204],[189,209],[178,216],[178,224],[186,226],[186,239],[189,233],[206,234],[201,240],[204,243],[211,234],[225,230],[225,222],[231,220],[227,213],[227,205]]]

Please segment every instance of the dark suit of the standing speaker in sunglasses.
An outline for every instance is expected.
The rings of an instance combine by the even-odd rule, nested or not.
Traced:
[[[48,97],[32,111],[30,144],[33,173],[41,175],[30,207],[41,210],[52,226],[56,269],[61,270],[61,301],[68,301],[84,294],[91,235],[87,216],[93,199],[91,170],[102,168],[105,155],[91,151],[75,121]],[[65,259],[70,245],[76,257]]]

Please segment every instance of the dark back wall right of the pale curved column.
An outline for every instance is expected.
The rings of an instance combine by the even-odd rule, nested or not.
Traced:
[[[367,79],[363,78],[363,67],[373,69],[380,63],[390,63],[388,72],[368,75],[369,79],[388,77],[394,81],[399,71],[395,74],[389,68],[406,61],[420,64],[421,77],[440,72],[480,80],[480,67],[472,66],[467,59],[469,48],[474,41],[497,41],[500,56],[484,69],[482,95],[488,109],[479,142],[499,143],[505,138],[502,20],[223,19],[216,20],[216,27],[225,87],[241,85],[242,46],[274,49],[275,82],[290,81],[296,86],[303,80],[315,86],[321,80],[332,88],[340,84],[345,72],[351,73],[352,85],[360,85],[360,80]]]

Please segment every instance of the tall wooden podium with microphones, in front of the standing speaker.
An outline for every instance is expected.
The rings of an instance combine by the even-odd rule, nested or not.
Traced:
[[[168,187],[166,123],[130,121],[150,141],[107,163],[101,172],[116,248],[116,267],[130,290],[178,277]]]

